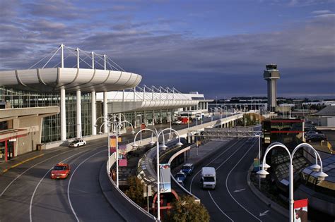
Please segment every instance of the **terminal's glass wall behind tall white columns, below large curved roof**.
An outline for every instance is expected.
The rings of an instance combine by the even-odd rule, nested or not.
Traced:
[[[23,90],[13,90],[4,86],[0,87],[0,101],[9,103],[8,108],[28,108],[44,106],[60,106],[59,93],[37,93]],[[76,92],[66,94],[66,138],[76,137]],[[91,123],[91,94],[81,95],[81,136],[92,134]],[[42,142],[53,142],[61,140],[61,116],[43,118]]]

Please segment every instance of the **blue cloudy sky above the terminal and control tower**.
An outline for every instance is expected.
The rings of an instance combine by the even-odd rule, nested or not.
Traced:
[[[266,96],[276,63],[278,97],[335,98],[335,0],[0,0],[0,70],[30,68],[60,44],[107,54],[140,86]]]

